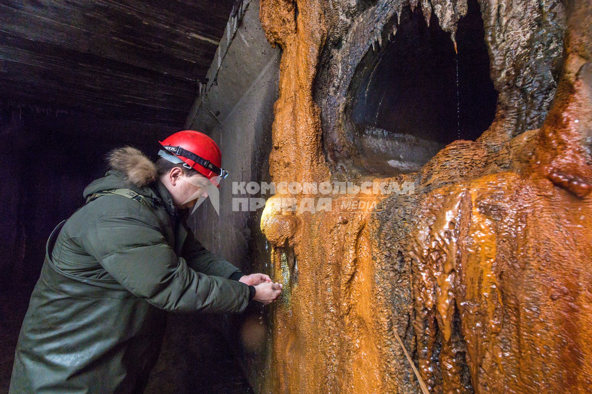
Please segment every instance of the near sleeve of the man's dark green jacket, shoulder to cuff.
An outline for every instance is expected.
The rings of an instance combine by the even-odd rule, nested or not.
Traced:
[[[89,226],[85,249],[115,280],[167,311],[221,313],[246,308],[249,286],[189,268],[166,243],[153,214],[142,215],[143,210],[134,215],[129,209],[112,211]]]

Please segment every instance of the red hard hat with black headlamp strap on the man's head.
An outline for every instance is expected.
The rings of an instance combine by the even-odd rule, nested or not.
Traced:
[[[173,163],[183,162],[184,167],[193,168],[205,175],[218,187],[219,178],[226,178],[228,172],[221,167],[222,154],[213,139],[194,130],[174,133],[159,141],[166,151],[158,152],[160,157]],[[213,179],[215,178],[215,179]]]

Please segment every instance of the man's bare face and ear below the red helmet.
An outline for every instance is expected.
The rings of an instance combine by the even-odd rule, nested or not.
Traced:
[[[192,208],[199,197],[208,196],[211,181],[193,168],[160,158],[156,161],[156,170],[157,177],[169,191],[177,209]]]

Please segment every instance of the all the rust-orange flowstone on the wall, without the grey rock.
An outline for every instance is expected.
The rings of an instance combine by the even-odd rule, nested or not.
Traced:
[[[565,64],[542,128],[510,140],[492,126],[478,142],[454,142],[418,174],[396,178],[428,179],[417,184],[421,193],[448,177],[439,162],[456,161],[471,174],[426,191],[413,217],[400,217],[413,223],[399,250],[410,266],[408,328],[394,324],[385,299],[397,284],[377,266],[389,243],[374,209],[310,213],[282,206],[285,196],[268,200],[261,229],[273,246],[274,279],[285,284],[273,311],[271,392],[419,392],[412,373],[408,385],[392,373],[393,364],[407,363],[394,330],[407,338],[433,393],[589,392],[592,5],[574,0],[565,9]],[[333,180],[313,102],[327,38],[322,4],[262,0],[260,18],[268,40],[284,50],[272,180]],[[504,138],[500,151],[511,152],[510,164],[491,170],[501,153],[488,143]]]

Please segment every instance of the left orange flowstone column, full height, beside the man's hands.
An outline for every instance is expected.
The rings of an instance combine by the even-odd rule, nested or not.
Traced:
[[[262,1],[260,15],[268,40],[284,49],[269,158],[272,180],[329,180],[320,113],[312,100],[318,53],[326,37],[320,4]],[[318,196],[297,196],[307,197]],[[274,207],[276,198],[280,196],[269,199],[262,218],[262,230],[274,245],[275,280],[288,282],[281,254],[292,247],[299,276],[284,291],[291,302],[274,311],[272,391],[382,392],[368,213],[297,214],[282,210],[281,204]]]

